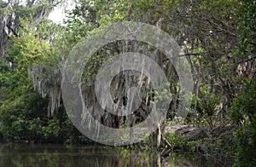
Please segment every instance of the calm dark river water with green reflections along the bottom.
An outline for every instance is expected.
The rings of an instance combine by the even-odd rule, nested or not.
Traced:
[[[56,144],[0,144],[0,166],[222,166],[213,159],[121,147],[67,147]]]

